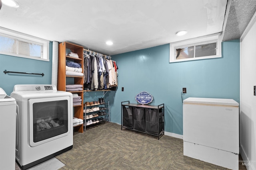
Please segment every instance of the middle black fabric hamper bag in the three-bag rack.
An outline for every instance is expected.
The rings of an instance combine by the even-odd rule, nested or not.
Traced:
[[[133,107],[133,129],[145,131],[144,108]]]

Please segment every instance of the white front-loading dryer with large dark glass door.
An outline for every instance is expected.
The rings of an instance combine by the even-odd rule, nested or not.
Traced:
[[[16,161],[21,169],[73,147],[73,100],[55,85],[19,84],[10,95],[18,105]]]

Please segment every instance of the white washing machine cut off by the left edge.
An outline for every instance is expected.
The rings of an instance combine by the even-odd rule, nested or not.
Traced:
[[[0,169],[15,169],[16,101],[0,88]]]

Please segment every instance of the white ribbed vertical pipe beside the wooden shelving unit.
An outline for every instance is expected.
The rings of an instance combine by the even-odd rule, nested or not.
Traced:
[[[52,42],[52,84],[57,87],[58,83],[58,54],[59,43],[57,41]]]

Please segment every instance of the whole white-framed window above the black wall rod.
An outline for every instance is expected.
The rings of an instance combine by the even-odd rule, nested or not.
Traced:
[[[49,61],[49,41],[0,27],[0,54]]]

